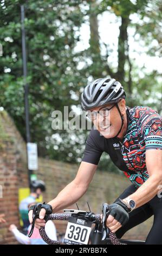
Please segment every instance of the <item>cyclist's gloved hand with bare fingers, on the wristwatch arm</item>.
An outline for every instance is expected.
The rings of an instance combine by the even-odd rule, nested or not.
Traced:
[[[125,225],[128,222],[128,208],[120,201],[109,206],[111,212],[107,218],[106,225],[113,233],[115,233],[122,225]]]

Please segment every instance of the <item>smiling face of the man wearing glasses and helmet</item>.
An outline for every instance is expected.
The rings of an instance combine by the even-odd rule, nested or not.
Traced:
[[[125,104],[125,100],[122,100],[121,104],[123,103]],[[120,108],[120,102],[118,102],[118,106]],[[95,129],[105,138],[115,137],[121,127],[121,117],[115,104],[96,107],[90,111]]]

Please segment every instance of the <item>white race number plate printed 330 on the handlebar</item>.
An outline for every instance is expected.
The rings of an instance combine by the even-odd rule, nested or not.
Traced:
[[[67,245],[88,245],[92,222],[70,217],[64,243]]]

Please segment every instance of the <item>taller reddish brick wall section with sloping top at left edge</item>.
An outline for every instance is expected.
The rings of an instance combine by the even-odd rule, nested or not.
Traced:
[[[25,144],[8,114],[0,112],[0,212],[7,223],[0,224],[0,243],[17,243],[8,231],[10,224],[19,227],[18,188],[28,187]]]

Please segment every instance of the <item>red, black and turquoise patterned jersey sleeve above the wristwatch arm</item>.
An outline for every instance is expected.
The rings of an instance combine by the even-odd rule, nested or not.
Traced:
[[[144,136],[145,150],[162,150],[162,117],[151,108],[147,108],[142,115],[141,132]]]

